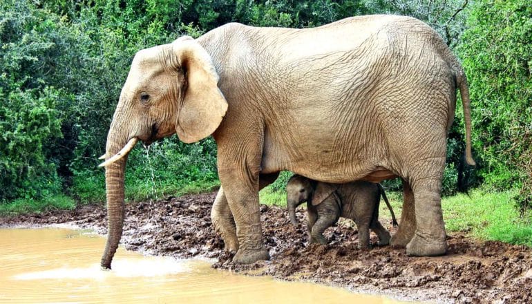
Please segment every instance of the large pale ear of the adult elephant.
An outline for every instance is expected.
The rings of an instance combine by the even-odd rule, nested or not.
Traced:
[[[196,40],[181,37],[173,41],[172,50],[186,77],[175,132],[182,142],[197,142],[220,126],[227,101],[218,88],[211,56]]]

